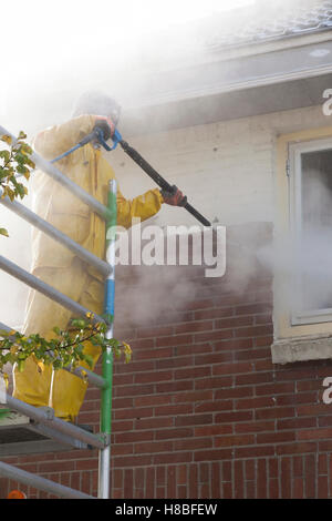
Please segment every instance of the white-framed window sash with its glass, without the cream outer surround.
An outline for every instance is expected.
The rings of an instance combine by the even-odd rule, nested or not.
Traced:
[[[332,321],[332,139],[289,146],[291,324]]]

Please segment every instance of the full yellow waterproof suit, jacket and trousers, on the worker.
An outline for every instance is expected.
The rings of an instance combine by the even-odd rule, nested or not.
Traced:
[[[89,134],[94,123],[95,116],[81,115],[50,127],[37,136],[34,149],[43,157],[54,159]],[[58,167],[106,204],[108,180],[114,178],[114,172],[100,150],[87,144],[60,161]],[[30,190],[35,196],[35,213],[98,257],[104,257],[105,222],[46,174],[39,172],[32,175],[34,180]],[[155,188],[127,201],[118,190],[116,201],[117,224],[127,228],[133,217],[144,221],[156,214],[163,197],[159,190]],[[32,244],[33,275],[92,311],[103,313],[104,284],[94,268],[38,229],[34,229]],[[54,336],[52,328],[65,328],[71,317],[70,310],[33,290],[29,297],[24,333],[39,333],[51,338]],[[100,349],[90,343],[85,343],[84,348],[95,365]],[[15,368],[13,376],[15,398],[35,407],[53,407],[56,417],[75,420],[87,386],[82,379],[64,370],[53,371],[49,366],[41,374],[33,356],[25,361],[24,370],[19,372]]]

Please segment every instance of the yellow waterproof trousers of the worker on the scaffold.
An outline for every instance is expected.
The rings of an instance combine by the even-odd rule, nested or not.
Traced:
[[[68,268],[42,267],[35,269],[33,274],[87,309],[97,314],[103,313],[103,283],[89,274],[86,265],[77,257]],[[33,290],[29,298],[24,333],[27,335],[39,333],[50,339],[55,337],[52,328],[58,326],[64,329],[71,317],[72,311]],[[86,341],[84,353],[92,356],[95,366],[101,349]],[[84,361],[80,365],[89,367]],[[51,366],[45,366],[40,372],[34,356],[28,358],[23,371],[17,368],[13,371],[15,398],[34,407],[52,407],[55,416],[66,421],[75,421],[86,387],[84,380],[63,369],[54,371]]]

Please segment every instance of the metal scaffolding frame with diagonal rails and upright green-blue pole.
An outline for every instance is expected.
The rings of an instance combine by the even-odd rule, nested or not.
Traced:
[[[3,126],[0,125],[0,135],[10,135],[12,142],[15,143],[17,139]],[[93,255],[87,249],[83,248],[80,244],[75,243],[61,231],[52,226],[50,223],[41,218],[35,213],[31,212],[28,207],[18,203],[11,202],[9,197],[1,198],[2,190],[0,188],[0,203],[14,212],[17,215],[29,222],[31,225],[38,227],[43,233],[51,236],[54,241],[68,247],[80,258],[85,260],[91,266],[94,266],[105,277],[105,300],[104,311],[114,317],[114,294],[115,294],[115,226],[116,226],[116,191],[117,184],[115,180],[110,181],[107,206],[101,204],[97,200],[85,192],[81,186],[73,183],[66,177],[54,164],[45,161],[35,152],[31,155],[35,166],[50,175],[53,180],[59,182],[74,196],[79,197],[90,208],[97,213],[106,223],[106,262]],[[76,302],[69,298],[66,295],[58,292],[52,286],[43,283],[38,277],[31,275],[20,266],[11,260],[0,256],[0,268],[13,276],[14,278],[23,282],[33,289],[44,294],[58,304],[66,307],[75,315],[86,316],[86,313],[93,313],[93,320],[105,321],[102,317],[94,314],[93,309],[87,309]],[[12,328],[0,323],[0,329],[10,331]],[[106,338],[113,338],[113,320],[105,334]],[[64,368],[71,371],[71,368]],[[83,368],[77,367],[73,375],[82,378]],[[110,497],[110,472],[111,472],[111,418],[112,418],[112,384],[113,384],[113,351],[107,348],[102,355],[102,376],[94,374],[84,368],[85,378],[93,382],[101,389],[101,413],[100,413],[100,433],[94,435],[85,429],[75,425],[63,421],[54,416],[54,411],[50,407],[37,408],[30,406],[17,398],[6,396],[7,405],[22,415],[29,417],[38,428],[48,433],[51,438],[58,441],[63,441],[71,445],[73,448],[87,448],[95,447],[98,449],[98,494],[100,499],[108,499]],[[38,477],[33,473],[25,472],[14,466],[9,466],[0,462],[0,476],[13,479],[24,484],[30,484],[37,489],[60,496],[62,498],[71,499],[96,499],[92,496],[85,494],[81,491],[61,486],[53,481]]]

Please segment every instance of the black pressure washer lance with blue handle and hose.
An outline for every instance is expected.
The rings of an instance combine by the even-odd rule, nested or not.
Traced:
[[[108,146],[106,141],[108,139],[112,139],[113,141],[113,146]],[[81,146],[84,146],[86,145],[87,143],[90,143],[91,141],[98,141],[98,143],[101,145],[104,146],[104,149],[107,151],[107,152],[111,152],[112,150],[114,150],[117,144],[121,145],[121,147],[124,150],[124,152],[129,156],[132,157],[133,161],[135,161],[135,163],[138,164],[138,166],[141,166],[142,170],[144,170],[144,172],[158,185],[160,186],[160,188],[165,192],[168,192],[170,195],[175,194],[176,191],[177,191],[177,186],[175,185],[170,185],[164,177],[162,177],[160,174],[158,174],[158,172],[153,168],[153,166],[147,163],[147,161],[145,161],[144,157],[142,157],[142,155],[135,150],[133,149],[132,146],[128,145],[128,143],[126,141],[123,140],[121,133],[115,129],[114,132],[113,132],[113,135],[111,133],[111,129],[110,129],[110,125],[104,122],[104,121],[98,121],[93,131],[87,134],[85,137],[83,137],[83,140],[81,140],[75,146],[73,146],[72,149],[70,149],[69,151],[64,152],[63,154],[59,155],[58,157],[55,157],[53,161],[51,161],[51,163],[54,163],[55,161],[60,161],[62,160],[63,157],[65,157],[66,155],[71,154],[72,152],[74,152],[75,150],[80,149]],[[183,207],[187,210],[187,212],[189,212],[191,215],[194,215],[194,217],[197,218],[197,221],[199,221],[204,226],[211,226],[211,223],[209,221],[207,221],[199,212],[197,212],[196,208],[194,208],[194,206],[191,206],[188,202],[187,202],[187,197],[185,196],[184,197],[184,204],[183,204]]]

